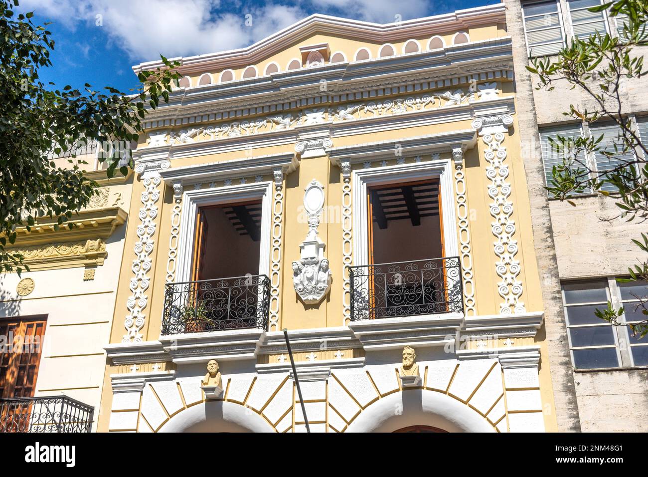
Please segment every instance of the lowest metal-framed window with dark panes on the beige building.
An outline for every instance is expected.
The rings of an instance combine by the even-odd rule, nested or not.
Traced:
[[[562,285],[568,340],[575,369],[601,369],[648,365],[648,339],[633,336],[628,326],[612,326],[594,311],[623,306],[622,323],[643,321],[638,308],[648,295],[645,284],[618,284],[614,277]]]

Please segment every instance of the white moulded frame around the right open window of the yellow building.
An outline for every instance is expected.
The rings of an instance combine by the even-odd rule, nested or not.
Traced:
[[[369,264],[367,187],[388,185],[396,182],[414,182],[428,178],[439,179],[439,194],[441,195],[441,204],[443,204],[441,220],[443,221],[444,255],[446,257],[459,256],[451,161],[448,158],[353,171],[351,180],[353,182],[354,265]]]

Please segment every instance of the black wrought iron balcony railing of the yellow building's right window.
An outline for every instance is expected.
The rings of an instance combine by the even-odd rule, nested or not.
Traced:
[[[349,267],[351,320],[463,313],[459,257]]]

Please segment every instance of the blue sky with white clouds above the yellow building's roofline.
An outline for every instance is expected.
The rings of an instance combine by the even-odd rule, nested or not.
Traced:
[[[313,13],[378,23],[498,3],[498,0],[21,0],[56,42],[41,79],[57,86],[137,85],[133,64],[247,46]],[[246,15],[251,25],[246,25]],[[249,21],[248,21],[249,23]]]

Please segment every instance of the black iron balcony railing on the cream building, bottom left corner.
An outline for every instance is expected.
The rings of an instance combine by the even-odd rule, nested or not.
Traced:
[[[90,432],[94,413],[67,396],[0,399],[0,432]]]

